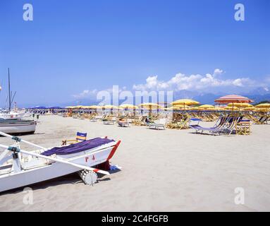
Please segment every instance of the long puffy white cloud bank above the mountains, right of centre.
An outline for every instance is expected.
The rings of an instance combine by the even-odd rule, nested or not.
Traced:
[[[207,90],[209,88],[226,88],[228,86],[244,87],[253,81],[250,78],[223,79],[220,78],[224,72],[215,69],[214,73],[187,76],[178,73],[168,81],[159,81],[158,76],[149,76],[145,84],[133,85],[134,90]]]

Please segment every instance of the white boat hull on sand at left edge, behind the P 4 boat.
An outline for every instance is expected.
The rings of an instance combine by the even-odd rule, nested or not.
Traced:
[[[35,133],[37,121],[23,119],[0,119],[0,131],[8,134]]]

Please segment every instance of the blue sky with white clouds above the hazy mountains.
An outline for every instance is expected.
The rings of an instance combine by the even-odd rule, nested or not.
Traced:
[[[25,3],[33,21],[23,20]],[[245,21],[234,20],[238,3]],[[267,90],[269,11],[267,0],[2,0],[0,105],[8,67],[19,105],[55,105],[112,85]]]

